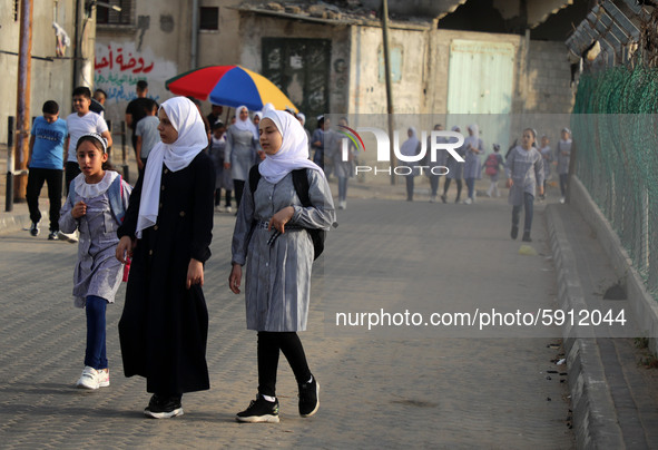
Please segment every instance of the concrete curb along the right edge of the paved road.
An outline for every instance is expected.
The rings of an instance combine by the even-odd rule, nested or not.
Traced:
[[[563,311],[586,310],[576,258],[556,207],[559,206],[547,206],[546,218],[558,276],[558,301]],[[579,329],[578,334],[585,334],[585,338],[572,334],[570,326],[562,329],[577,448],[622,449],[621,428],[593,332]]]

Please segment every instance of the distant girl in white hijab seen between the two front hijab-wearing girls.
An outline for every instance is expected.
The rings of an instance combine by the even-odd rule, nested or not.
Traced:
[[[246,106],[238,106],[238,116],[234,125],[226,131],[226,148],[224,149],[224,168],[230,170],[235,203],[239,209],[243,190],[249,169],[257,162],[258,130],[249,119]]]

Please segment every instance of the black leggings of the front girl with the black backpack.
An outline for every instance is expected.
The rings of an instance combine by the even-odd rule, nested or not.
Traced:
[[[295,374],[297,384],[311,380],[311,370],[299,336],[294,331],[258,332],[258,393],[276,397],[278,353],[283,352]]]

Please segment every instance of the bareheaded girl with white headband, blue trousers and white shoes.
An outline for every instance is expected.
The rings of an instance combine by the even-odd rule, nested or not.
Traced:
[[[115,302],[124,274],[115,253],[119,242],[117,229],[131,188],[118,173],[108,169],[102,136],[80,136],[76,154],[82,173],[71,182],[59,226],[65,233],[80,233],[73,299],[76,306],[86,309],[87,348],[77,387],[96,390],[109,385],[105,313],[107,304]]]

